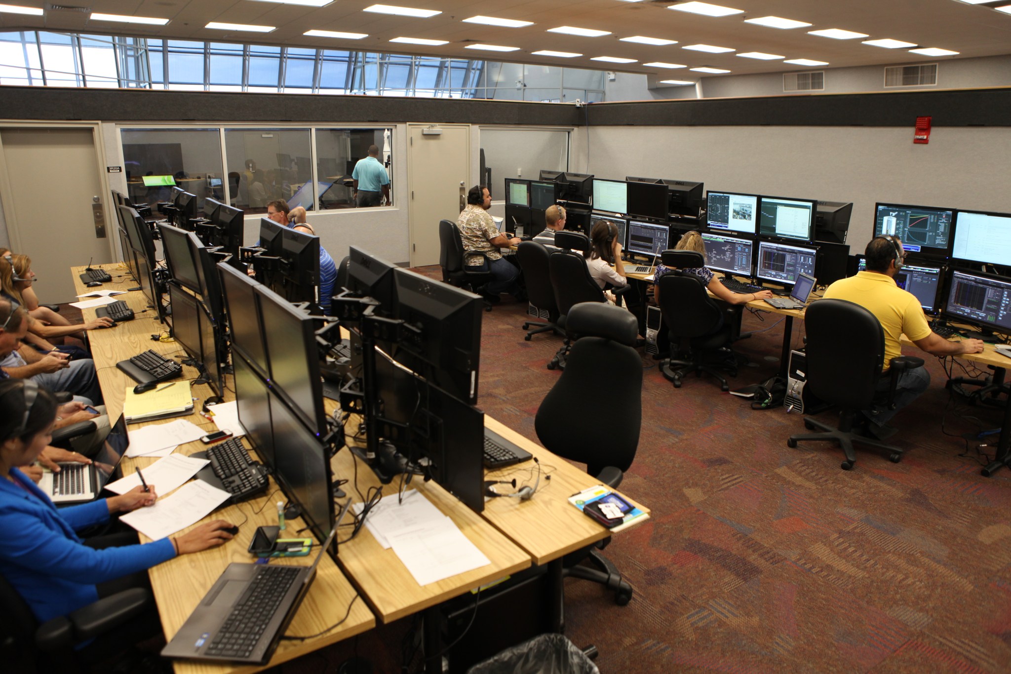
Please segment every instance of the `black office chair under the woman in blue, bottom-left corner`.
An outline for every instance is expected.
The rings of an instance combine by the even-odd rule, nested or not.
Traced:
[[[17,674],[84,672],[87,653],[74,647],[135,620],[154,607],[151,592],[132,588],[39,624],[17,590],[0,576],[0,662]],[[124,649],[132,644],[123,644]],[[113,653],[95,654],[102,659]],[[85,662],[82,662],[84,660]]]

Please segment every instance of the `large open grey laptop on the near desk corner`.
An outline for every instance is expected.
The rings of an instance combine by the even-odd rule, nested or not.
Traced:
[[[266,664],[315,577],[351,499],[319,546],[311,566],[233,563],[207,591],[172,641],[167,658]]]

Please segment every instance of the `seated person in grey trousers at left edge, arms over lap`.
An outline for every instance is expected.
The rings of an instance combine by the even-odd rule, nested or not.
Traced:
[[[51,391],[70,391],[78,402],[102,403],[94,361],[68,361],[61,352],[39,354],[21,345],[27,333],[28,314],[24,307],[0,298],[0,380],[32,379]]]

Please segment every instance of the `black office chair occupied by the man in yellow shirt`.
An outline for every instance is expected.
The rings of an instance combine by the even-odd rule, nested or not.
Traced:
[[[804,427],[821,428],[825,432],[791,436],[788,447],[798,441],[818,440],[839,443],[846,460],[842,469],[849,470],[856,461],[853,443],[886,450],[893,463],[899,463],[903,450],[853,432],[853,423],[861,410],[881,403],[895,409],[895,392],[899,376],[906,370],[923,365],[922,358],[900,356],[889,362],[891,386],[887,393],[877,390],[885,361],[885,331],[875,314],[853,302],[822,299],[805,312],[807,329],[807,384],[811,392],[825,402],[838,405],[839,425],[833,428],[810,416],[804,417]]]

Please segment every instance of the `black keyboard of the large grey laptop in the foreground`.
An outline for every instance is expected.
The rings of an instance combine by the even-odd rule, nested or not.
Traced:
[[[277,606],[298,577],[301,567],[262,566],[224,618],[207,647],[207,655],[248,658],[277,612]]]

